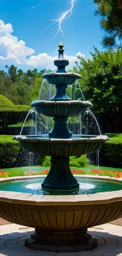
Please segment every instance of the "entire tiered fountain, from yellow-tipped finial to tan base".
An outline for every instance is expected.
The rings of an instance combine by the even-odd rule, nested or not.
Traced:
[[[87,233],[87,228],[122,215],[122,197],[117,192],[111,195],[107,195],[110,192],[90,196],[78,194],[79,183],[70,171],[69,156],[96,152],[109,138],[105,135],[73,135],[68,129],[68,117],[81,115],[92,104],[71,101],[66,95],[67,86],[81,76],[66,72],[69,62],[64,59],[63,46],[62,43],[59,45],[59,56],[54,60],[57,72],[43,75],[50,84],[56,85],[56,94],[50,101],[35,100],[31,103],[38,113],[54,117],[54,127],[49,134],[13,138],[29,152],[51,156],[50,171],[40,184],[43,193],[0,191],[0,216],[35,228],[35,234],[25,239],[25,246],[33,250],[91,250],[97,246],[97,240]]]

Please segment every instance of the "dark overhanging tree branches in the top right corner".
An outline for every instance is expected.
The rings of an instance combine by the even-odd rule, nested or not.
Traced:
[[[104,47],[122,46],[122,0],[93,0],[97,4],[95,15],[101,16],[100,26],[108,35],[105,35],[102,44]],[[119,40],[119,44],[117,41]]]

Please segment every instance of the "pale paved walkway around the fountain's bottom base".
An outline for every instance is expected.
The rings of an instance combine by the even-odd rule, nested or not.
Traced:
[[[0,226],[0,256],[119,256],[122,255],[122,227],[111,224],[99,225],[88,229],[97,238],[98,246],[92,251],[60,252],[33,251],[24,246],[25,237],[34,233],[34,229],[10,224]]]

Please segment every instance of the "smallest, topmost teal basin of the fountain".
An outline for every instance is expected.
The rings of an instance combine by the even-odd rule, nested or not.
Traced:
[[[68,72],[68,73],[46,73],[42,76],[47,79],[49,84],[53,85],[72,85],[81,75]]]

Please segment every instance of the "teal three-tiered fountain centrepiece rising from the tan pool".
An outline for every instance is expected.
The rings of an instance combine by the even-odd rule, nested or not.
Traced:
[[[65,67],[68,60],[64,59],[63,45],[59,45],[59,56],[54,60],[56,73],[46,73],[43,78],[50,84],[56,85],[56,94],[51,101],[35,100],[31,103],[36,111],[48,117],[54,117],[54,127],[48,135],[17,135],[13,139],[30,152],[42,156],[51,156],[49,174],[41,184],[42,189],[71,190],[78,189],[79,183],[71,173],[70,156],[79,156],[100,150],[109,138],[105,135],[73,135],[68,129],[68,117],[81,115],[92,107],[90,101],[71,101],[66,95],[66,88],[81,76],[67,73]]]

